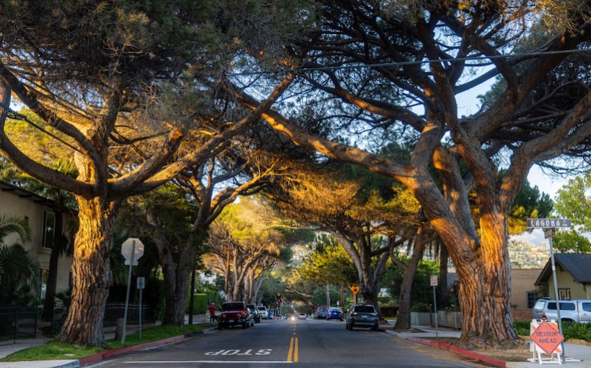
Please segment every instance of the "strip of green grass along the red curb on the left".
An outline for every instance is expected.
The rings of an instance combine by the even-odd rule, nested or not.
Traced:
[[[216,326],[214,324],[193,324],[191,326],[153,326],[142,330],[142,338],[140,340],[139,332],[127,335],[125,337],[125,344],[121,344],[121,340],[107,340],[108,349],[117,349],[122,346],[131,346],[143,344],[145,342],[152,342],[156,340],[166,339],[168,337],[184,335],[186,333],[193,333],[203,331],[204,329]],[[61,360],[61,359],[79,359],[85,356],[92,356],[104,351],[99,347],[86,347],[76,344],[64,344],[63,342],[48,342],[40,346],[33,346],[28,349],[17,351],[6,358],[0,359],[0,362],[22,362],[30,360]]]

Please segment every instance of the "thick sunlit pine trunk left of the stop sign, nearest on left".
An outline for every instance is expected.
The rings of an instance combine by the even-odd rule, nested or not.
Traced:
[[[113,203],[76,197],[80,228],[74,240],[72,305],[58,341],[106,347],[103,322],[113,283],[109,252],[113,246]]]

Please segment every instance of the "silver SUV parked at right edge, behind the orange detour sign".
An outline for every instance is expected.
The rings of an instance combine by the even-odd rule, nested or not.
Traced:
[[[563,322],[591,322],[591,300],[561,300],[560,320]],[[558,319],[556,300],[540,299],[533,306],[534,319]]]

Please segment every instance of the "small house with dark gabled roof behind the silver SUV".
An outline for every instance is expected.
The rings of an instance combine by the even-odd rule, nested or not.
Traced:
[[[591,254],[558,253],[554,255],[559,299],[591,299]],[[548,260],[535,285],[547,287],[555,298],[551,260]]]

